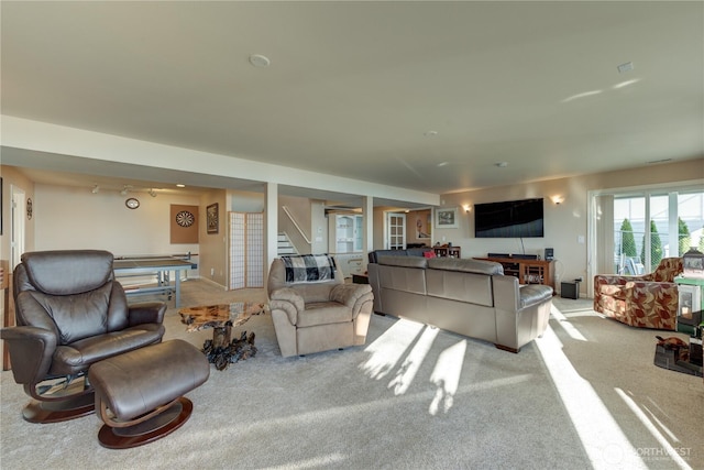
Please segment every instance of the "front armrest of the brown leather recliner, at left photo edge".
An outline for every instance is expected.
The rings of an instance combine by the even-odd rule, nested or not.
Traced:
[[[3,328],[0,338],[8,342],[14,381],[38,383],[46,378],[57,338],[54,331],[29,326]]]

